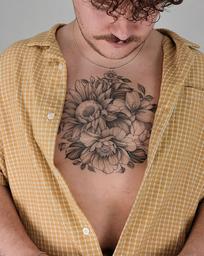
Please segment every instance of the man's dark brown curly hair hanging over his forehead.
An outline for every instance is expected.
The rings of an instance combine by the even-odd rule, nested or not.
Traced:
[[[178,5],[183,0],[88,0],[93,6],[100,10],[105,7],[108,15],[114,18],[114,22],[118,19],[117,14],[124,15],[129,21],[148,20],[152,14],[158,15],[163,12],[167,6]],[[158,7],[162,4],[161,7]],[[122,10],[122,11],[121,11]],[[128,12],[127,12],[128,11]],[[117,13],[116,15],[113,12]],[[127,17],[126,13],[131,13],[131,17]],[[159,20],[157,19],[157,21]],[[155,22],[157,22],[155,21]],[[153,22],[153,21],[152,21]]]

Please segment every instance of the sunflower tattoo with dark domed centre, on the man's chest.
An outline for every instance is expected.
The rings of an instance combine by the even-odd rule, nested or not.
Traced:
[[[64,111],[61,124],[62,131],[66,131],[63,138],[69,141],[78,141],[83,131],[101,133],[106,129],[106,121],[114,121],[117,116],[106,110],[110,98],[111,89],[107,85],[95,84],[92,77],[91,82],[79,80],[75,83],[75,90],[69,89],[66,93]]]

